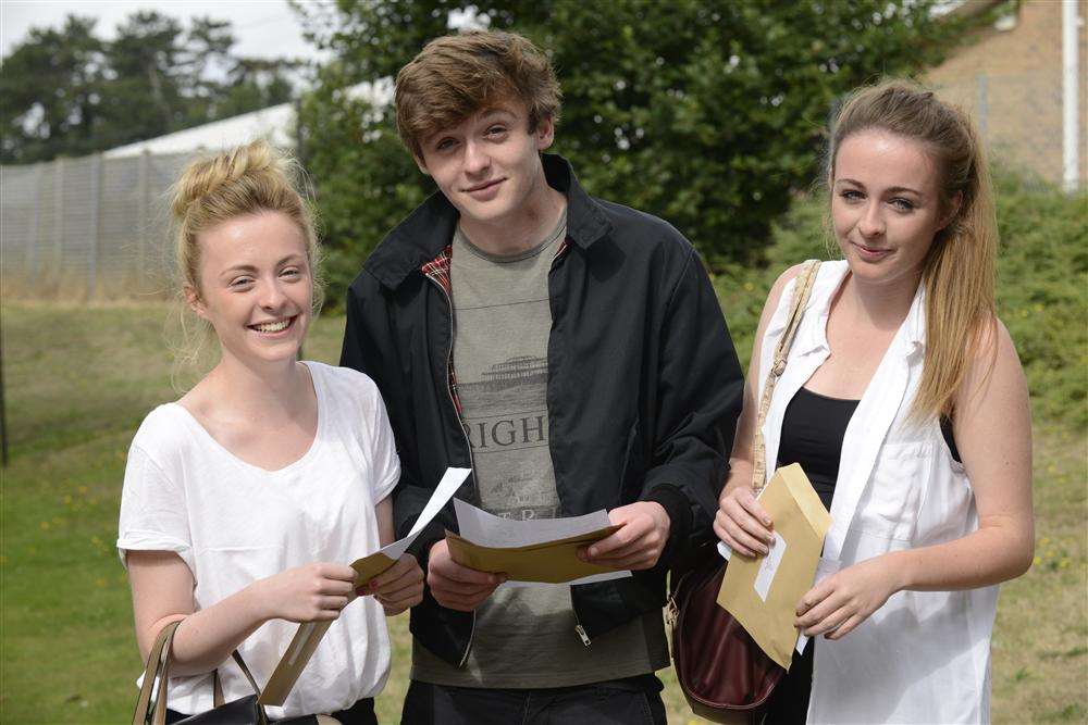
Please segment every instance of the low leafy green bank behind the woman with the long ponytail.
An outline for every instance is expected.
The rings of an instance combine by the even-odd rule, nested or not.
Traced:
[[[1066,196],[998,168],[998,316],[1016,343],[1037,421],[1088,427],[1088,197]],[[767,264],[727,266],[715,276],[738,354],[746,362],[767,292],[806,259],[838,259],[823,199],[795,203],[775,223]]]

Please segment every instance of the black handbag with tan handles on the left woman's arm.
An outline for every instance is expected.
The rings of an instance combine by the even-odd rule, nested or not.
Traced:
[[[136,699],[136,711],[133,713],[133,725],[165,725],[166,722],[166,691],[170,685],[170,646],[174,639],[174,633],[181,621],[168,624],[154,638],[154,645],[147,655],[147,665],[144,670],[144,684]],[[257,680],[246,666],[245,660],[238,650],[231,652],[231,657],[242,668],[242,674],[246,676],[254,688],[254,695],[238,698],[231,702],[223,702],[223,691],[219,683],[219,672],[212,674],[213,702],[214,707],[196,715],[189,715],[185,720],[177,721],[177,725],[269,725],[268,713],[264,707],[257,702],[261,689],[257,686]],[[159,689],[151,704],[151,693],[154,690],[154,683],[158,680]],[[150,717],[150,720],[148,720]],[[326,715],[306,715],[302,717],[292,717],[288,720],[275,721],[283,725],[318,725],[319,723],[336,723],[335,718]]]

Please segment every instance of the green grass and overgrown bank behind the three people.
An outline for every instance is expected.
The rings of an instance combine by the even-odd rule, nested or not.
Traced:
[[[1088,720],[1085,370],[1088,232],[1083,199],[1002,180],[1002,318],[1036,411],[1037,560],[1005,585],[993,639],[998,722]],[[780,225],[765,271],[716,282],[746,361],[774,276],[821,253],[818,210]],[[139,421],[176,397],[163,305],[12,303],[0,310],[12,462],[0,492],[0,721],[115,723],[138,675],[127,580],[113,542],[125,452]],[[307,357],[335,361],[342,318],[316,325]],[[394,671],[379,699],[397,721],[407,617],[391,621]],[[671,677],[670,722],[692,720]]]

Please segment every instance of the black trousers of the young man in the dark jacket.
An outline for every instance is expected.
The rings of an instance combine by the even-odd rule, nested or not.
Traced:
[[[413,679],[401,725],[666,725],[663,685],[640,675],[576,687],[483,689]]]

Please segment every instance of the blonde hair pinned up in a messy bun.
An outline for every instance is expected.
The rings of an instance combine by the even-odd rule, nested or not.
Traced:
[[[175,345],[175,377],[180,368],[200,359],[210,326],[194,320],[186,291],[200,295],[201,233],[238,216],[263,211],[286,214],[306,237],[307,263],[313,282],[312,308],[321,308],[323,286],[318,230],[313,210],[300,189],[302,172],[287,153],[264,140],[193,161],[171,188],[180,297],[181,341]]]

